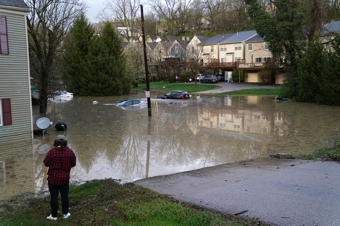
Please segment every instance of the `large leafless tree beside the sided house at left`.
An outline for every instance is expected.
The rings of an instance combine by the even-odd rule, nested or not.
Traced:
[[[82,0],[27,0],[31,76],[39,91],[40,113],[46,113],[60,76],[58,58],[68,28],[87,8]]]

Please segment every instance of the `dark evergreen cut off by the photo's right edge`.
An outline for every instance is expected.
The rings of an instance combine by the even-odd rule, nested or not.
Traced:
[[[317,96],[319,104],[340,105],[340,35],[335,35],[330,51],[326,54]]]

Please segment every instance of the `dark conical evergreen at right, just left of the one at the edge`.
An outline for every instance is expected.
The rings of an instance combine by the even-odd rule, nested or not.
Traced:
[[[301,102],[316,102],[319,84],[324,69],[324,45],[318,36],[314,42],[309,41],[306,55],[302,59],[296,79],[296,100]]]

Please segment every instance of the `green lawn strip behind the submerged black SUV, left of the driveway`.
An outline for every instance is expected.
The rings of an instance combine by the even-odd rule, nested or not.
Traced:
[[[165,86],[165,88],[163,88]],[[144,89],[147,87],[147,84],[138,84],[138,88],[133,89]],[[218,89],[221,88],[219,85],[197,85],[195,86],[195,82],[190,83],[169,83],[167,81],[163,82],[150,82],[150,90],[168,92],[172,90],[185,90],[188,93],[194,93],[199,91],[205,91],[210,89]]]

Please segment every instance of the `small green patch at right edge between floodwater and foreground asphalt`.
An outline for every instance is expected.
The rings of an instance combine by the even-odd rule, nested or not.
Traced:
[[[299,154],[299,159],[340,161],[340,140],[335,140],[332,145],[317,149],[316,152]]]

